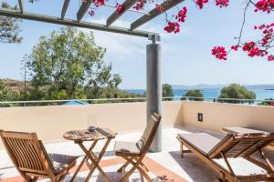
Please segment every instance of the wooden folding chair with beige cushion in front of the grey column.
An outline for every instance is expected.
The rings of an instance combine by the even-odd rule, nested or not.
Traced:
[[[117,141],[114,146],[114,151],[116,156],[122,157],[126,160],[126,163],[118,169],[117,172],[125,172],[125,167],[132,165],[132,168],[126,174],[121,177],[120,181],[127,181],[128,178],[132,175],[135,169],[139,170],[142,177],[149,182],[152,181],[151,177],[147,175],[148,168],[142,163],[143,157],[145,157],[148,152],[151,144],[153,143],[153,138],[156,135],[158,126],[161,121],[161,116],[153,113],[152,120],[146,126],[141,139],[136,142],[122,142]]]

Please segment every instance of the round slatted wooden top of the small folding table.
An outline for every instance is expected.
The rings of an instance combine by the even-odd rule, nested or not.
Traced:
[[[97,128],[90,132],[88,129],[72,130],[64,134],[64,138],[75,142],[94,141],[115,137],[117,133],[109,128]]]

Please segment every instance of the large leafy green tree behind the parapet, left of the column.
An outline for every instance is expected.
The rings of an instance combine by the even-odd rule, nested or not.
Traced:
[[[29,98],[95,98],[102,87],[116,88],[121,77],[104,63],[105,51],[91,32],[73,27],[41,36],[27,58],[33,86]]]

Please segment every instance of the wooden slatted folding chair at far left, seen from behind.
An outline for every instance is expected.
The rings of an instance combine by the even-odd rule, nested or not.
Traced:
[[[38,177],[62,181],[76,165],[78,157],[47,154],[36,133],[0,131],[0,136],[17,171],[27,182],[35,182]]]

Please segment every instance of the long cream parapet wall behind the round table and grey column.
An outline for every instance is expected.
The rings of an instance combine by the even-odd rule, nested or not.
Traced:
[[[182,126],[181,102],[163,102],[163,126]],[[61,140],[66,131],[87,128],[88,117],[116,132],[141,131],[146,125],[146,103],[86,106],[29,106],[0,108],[0,129],[36,132],[44,141]]]

